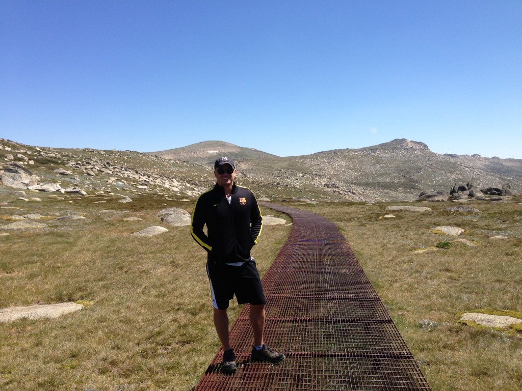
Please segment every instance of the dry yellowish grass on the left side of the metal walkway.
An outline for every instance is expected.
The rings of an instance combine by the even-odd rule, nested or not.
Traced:
[[[54,320],[0,323],[0,389],[190,389],[219,348],[205,252],[187,227],[169,227],[152,238],[129,236],[161,225],[156,213],[165,207],[163,200],[138,200],[131,212],[110,217],[92,200],[77,200],[60,211],[81,211],[86,220],[0,237],[0,308],[91,303]],[[23,213],[31,207],[50,214],[64,205],[49,199],[20,206]],[[192,204],[169,206],[191,209]],[[143,220],[122,221],[131,214]],[[260,273],[289,229],[263,229],[253,253]],[[239,310],[231,306],[232,320]]]

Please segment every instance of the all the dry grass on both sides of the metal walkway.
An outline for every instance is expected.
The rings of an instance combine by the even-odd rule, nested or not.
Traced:
[[[0,193],[0,202],[8,202],[3,206],[22,209],[0,209],[0,215],[81,213],[86,219],[46,220],[49,229],[0,236],[0,308],[78,300],[90,306],[54,320],[0,323],[0,389],[191,390],[219,348],[205,253],[187,227],[168,227],[152,238],[129,234],[161,225],[156,213],[164,207],[190,212],[193,203],[154,196],[127,204],[117,203],[119,197],[38,197],[41,202],[24,202]],[[432,211],[396,211],[395,219],[379,218],[389,203],[293,206],[339,227],[435,391],[479,391],[522,389],[522,338],[465,326],[456,317],[477,308],[522,311],[520,202],[473,203],[480,210],[474,214],[433,203]],[[142,220],[122,220],[131,216]],[[465,228],[461,237],[479,246],[431,233],[442,225]],[[260,274],[289,231],[263,228],[253,253]],[[451,246],[411,251],[441,242]],[[231,321],[240,309],[231,306]]]

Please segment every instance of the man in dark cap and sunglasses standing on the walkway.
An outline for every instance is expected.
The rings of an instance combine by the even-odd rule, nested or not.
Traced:
[[[237,370],[227,315],[234,294],[239,304],[250,303],[254,334],[252,360],[272,363],[284,360],[283,353],[272,351],[263,340],[266,299],[256,263],[250,255],[261,233],[263,218],[254,194],[235,184],[235,174],[235,164],[230,157],[216,160],[216,185],[199,196],[191,220],[192,237],[207,251],[213,319],[223,346],[221,370],[225,373]],[[205,224],[207,234],[203,231]]]

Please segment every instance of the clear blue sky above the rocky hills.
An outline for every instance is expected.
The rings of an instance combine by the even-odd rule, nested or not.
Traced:
[[[522,158],[522,2],[0,2],[0,137]]]

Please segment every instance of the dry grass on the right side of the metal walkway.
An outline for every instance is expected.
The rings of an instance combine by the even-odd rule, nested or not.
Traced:
[[[386,214],[382,204],[296,205],[334,222],[357,255],[401,335],[421,363],[434,390],[522,389],[522,334],[478,330],[457,322],[473,309],[522,309],[522,205],[474,203],[478,214],[449,213],[448,203],[429,204],[424,213]],[[478,247],[445,236],[440,225],[465,228],[460,235]],[[507,235],[507,240],[489,237]],[[498,313],[504,313],[497,311]]]

